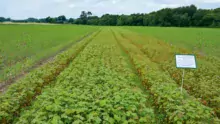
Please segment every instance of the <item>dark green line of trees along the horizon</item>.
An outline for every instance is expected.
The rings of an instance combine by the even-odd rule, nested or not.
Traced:
[[[164,8],[148,14],[104,14],[101,17],[93,16],[92,12],[82,11],[77,19],[67,19],[64,15],[55,18],[28,18],[25,20],[11,20],[0,17],[0,22],[4,21],[106,26],[220,27],[220,8],[198,9],[195,5],[190,5],[178,8]]]

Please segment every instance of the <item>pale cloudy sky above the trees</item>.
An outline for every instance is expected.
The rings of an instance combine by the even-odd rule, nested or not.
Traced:
[[[148,13],[190,4],[211,9],[220,7],[220,0],[0,0],[0,17],[24,19],[65,15],[77,18],[82,10],[100,16],[105,13]]]

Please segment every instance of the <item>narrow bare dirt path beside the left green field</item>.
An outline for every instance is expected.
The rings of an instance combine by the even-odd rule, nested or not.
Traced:
[[[0,94],[4,93],[8,86],[10,86],[11,84],[14,84],[17,80],[23,78],[26,74],[28,74],[29,72],[31,72],[32,70],[48,63],[49,61],[52,61],[53,58],[59,54],[62,53],[63,51],[69,49],[70,47],[72,47],[75,43],[80,42],[82,40],[84,40],[85,38],[91,36],[94,32],[88,33],[87,35],[81,37],[80,39],[78,39],[77,41],[74,41],[66,46],[64,46],[61,50],[53,53],[52,55],[50,55],[49,57],[45,57],[42,58],[40,61],[36,62],[36,64],[34,64],[32,67],[26,69],[24,72],[21,72],[20,74],[18,74],[17,76],[15,76],[14,78],[11,78],[10,80],[7,80],[5,82],[0,82]]]

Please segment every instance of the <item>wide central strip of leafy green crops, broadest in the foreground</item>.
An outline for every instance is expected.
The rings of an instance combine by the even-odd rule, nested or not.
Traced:
[[[16,122],[154,123],[147,96],[109,33],[101,32]]]

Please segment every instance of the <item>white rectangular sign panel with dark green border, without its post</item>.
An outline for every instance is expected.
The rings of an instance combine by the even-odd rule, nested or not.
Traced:
[[[194,55],[176,55],[177,68],[196,68],[196,57]]]

